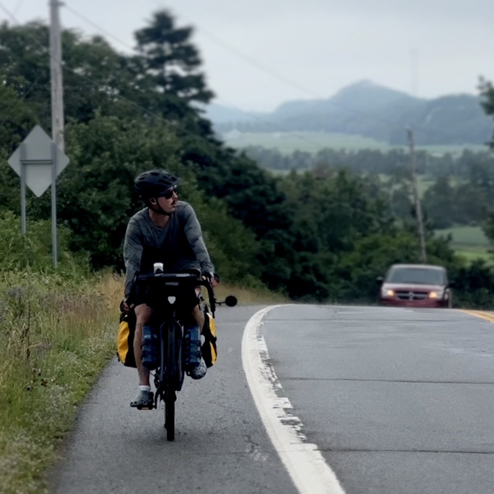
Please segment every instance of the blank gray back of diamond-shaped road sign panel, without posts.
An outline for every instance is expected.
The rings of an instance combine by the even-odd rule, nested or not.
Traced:
[[[53,158],[56,165],[55,176],[58,176],[67,166],[69,159],[63,151],[53,145],[48,134],[36,125],[7,162],[19,176],[21,167],[24,166],[25,184],[40,197],[51,185]]]

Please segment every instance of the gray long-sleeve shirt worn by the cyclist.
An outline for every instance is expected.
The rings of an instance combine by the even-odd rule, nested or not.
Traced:
[[[214,272],[195,211],[184,201],[177,202],[163,227],[152,221],[147,207],[136,212],[127,224],[123,260],[125,298],[130,294],[135,273],[152,272],[154,262],[162,262],[164,269],[169,271]]]

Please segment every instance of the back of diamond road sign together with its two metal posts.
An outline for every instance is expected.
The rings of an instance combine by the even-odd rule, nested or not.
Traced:
[[[8,164],[20,176],[20,212],[22,233],[26,233],[26,185],[40,197],[51,185],[51,248],[53,267],[57,264],[56,241],[56,177],[67,166],[68,157],[36,125],[8,158]]]

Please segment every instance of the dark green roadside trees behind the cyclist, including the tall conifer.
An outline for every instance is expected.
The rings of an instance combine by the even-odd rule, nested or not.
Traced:
[[[94,269],[121,270],[125,227],[142,207],[133,179],[167,168],[184,179],[180,197],[196,209],[224,279],[298,300],[374,302],[375,277],[390,263],[419,261],[409,204],[396,215],[376,176],[331,165],[274,177],[225,147],[197,109],[212,93],[190,34],[165,11],[135,33],[131,55],[101,37],[63,32],[70,164],[57,205],[68,248]],[[47,27],[3,24],[0,45],[0,211],[18,214],[19,179],[6,159],[35,124],[50,131]],[[29,194],[27,211],[30,220],[49,218],[49,194]],[[457,300],[494,302],[491,268],[466,265],[430,227],[427,254],[458,277]]]

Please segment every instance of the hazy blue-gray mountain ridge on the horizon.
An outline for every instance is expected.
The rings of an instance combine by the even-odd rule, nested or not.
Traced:
[[[483,144],[494,131],[477,96],[423,99],[369,81],[344,87],[328,99],[287,101],[255,118],[222,108],[221,118],[215,117],[217,108],[207,113],[218,132],[326,131],[397,145],[405,143],[406,127],[414,130],[417,144]]]

